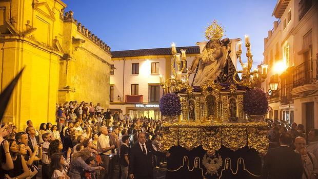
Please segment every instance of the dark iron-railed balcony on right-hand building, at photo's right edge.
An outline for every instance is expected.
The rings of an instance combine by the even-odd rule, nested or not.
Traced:
[[[316,60],[308,60],[294,68],[293,88],[312,84],[316,81],[314,70],[316,69]]]

